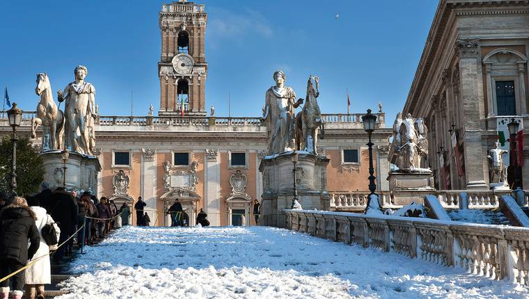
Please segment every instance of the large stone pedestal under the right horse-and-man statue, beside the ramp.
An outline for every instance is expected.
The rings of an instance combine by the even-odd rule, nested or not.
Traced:
[[[297,197],[301,207],[329,211],[330,197],[326,191],[329,159],[307,152],[297,153]],[[294,165],[291,156],[292,152],[265,156],[259,165],[263,184],[260,225],[285,227],[283,209],[290,209],[294,197]]]

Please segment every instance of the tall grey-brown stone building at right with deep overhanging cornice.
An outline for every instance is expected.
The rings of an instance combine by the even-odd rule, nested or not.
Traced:
[[[489,188],[487,152],[512,118],[527,139],[528,55],[528,1],[440,1],[403,109],[427,120],[437,188]],[[523,160],[529,186],[527,147]]]

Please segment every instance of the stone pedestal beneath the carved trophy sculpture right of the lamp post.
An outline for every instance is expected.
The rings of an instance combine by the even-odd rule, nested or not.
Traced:
[[[424,204],[425,191],[435,191],[434,177],[429,172],[390,172],[389,190],[393,204],[403,206],[416,202]]]

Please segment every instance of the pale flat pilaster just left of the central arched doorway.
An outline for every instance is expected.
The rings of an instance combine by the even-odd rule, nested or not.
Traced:
[[[156,197],[156,149],[141,149],[141,177],[140,194],[147,206],[145,210],[150,218],[150,225],[155,225],[157,216]],[[158,219],[158,224],[163,225],[164,220]]]

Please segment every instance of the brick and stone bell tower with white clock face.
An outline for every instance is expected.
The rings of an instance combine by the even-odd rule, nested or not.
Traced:
[[[203,4],[180,0],[161,6],[158,115],[206,115],[206,23]]]

